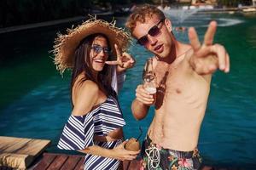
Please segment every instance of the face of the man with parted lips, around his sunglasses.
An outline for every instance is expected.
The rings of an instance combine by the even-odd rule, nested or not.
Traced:
[[[146,17],[144,23],[137,21],[132,35],[137,39],[146,36],[148,42],[144,44],[144,47],[158,57],[166,58],[171,54],[172,49],[172,25],[170,20],[166,19],[162,22],[160,22],[160,20],[159,16],[153,14],[152,17]],[[149,30],[152,30],[154,26],[159,28],[159,32],[152,36]]]

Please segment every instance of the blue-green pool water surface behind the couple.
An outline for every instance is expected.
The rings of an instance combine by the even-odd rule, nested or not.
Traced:
[[[256,164],[256,16],[241,14],[195,14],[182,26],[195,26],[201,39],[209,20],[218,21],[215,42],[228,49],[229,74],[217,72],[212,78],[207,114],[201,127],[199,149],[207,164],[234,164],[248,167]],[[181,25],[175,19],[173,26]],[[123,26],[125,18],[119,18]],[[70,72],[62,78],[50,58],[57,31],[71,27],[54,26],[0,35],[0,135],[50,139],[48,150],[56,148],[62,127],[70,115]],[[177,39],[188,42],[186,32],[174,31]],[[153,110],[137,122],[131,116],[134,90],[141,83],[143,64],[151,54],[137,45],[129,52],[137,65],[127,71],[119,101],[126,120],[125,138],[137,137],[138,127],[147,131]],[[249,167],[248,167],[249,169]]]

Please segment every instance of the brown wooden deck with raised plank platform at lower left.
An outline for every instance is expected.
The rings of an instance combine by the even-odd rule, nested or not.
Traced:
[[[0,136],[0,170],[83,170],[84,156],[42,153],[49,140]],[[40,156],[39,156],[40,155]],[[123,161],[124,170],[139,170],[140,161]],[[229,167],[203,167],[201,170],[239,170]]]

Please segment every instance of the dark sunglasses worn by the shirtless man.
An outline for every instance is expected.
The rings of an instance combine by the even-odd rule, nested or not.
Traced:
[[[166,20],[165,18],[164,19],[161,19],[155,26],[151,27],[149,30],[148,30],[148,34],[152,37],[156,37],[160,34],[160,28],[158,27],[160,25],[161,22],[163,22],[164,20]],[[137,43],[142,45],[142,46],[145,46],[148,44],[148,34],[139,38],[137,40]]]

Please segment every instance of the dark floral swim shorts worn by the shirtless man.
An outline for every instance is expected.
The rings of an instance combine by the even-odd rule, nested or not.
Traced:
[[[196,170],[201,166],[197,149],[192,151],[167,150],[153,144],[147,136],[143,142],[140,170]]]

